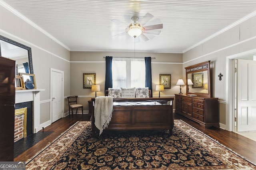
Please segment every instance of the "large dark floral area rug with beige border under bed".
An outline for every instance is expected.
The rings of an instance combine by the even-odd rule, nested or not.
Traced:
[[[103,131],[79,121],[26,161],[26,169],[252,169],[256,165],[180,120],[168,130]]]

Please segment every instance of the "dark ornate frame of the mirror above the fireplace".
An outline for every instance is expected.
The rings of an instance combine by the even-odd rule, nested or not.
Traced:
[[[32,63],[32,52],[31,52],[31,48],[26,46],[26,45],[23,45],[21,43],[18,43],[16,41],[13,41],[9,38],[6,38],[4,36],[1,36],[0,35],[0,40],[4,41],[4,42],[8,42],[12,45],[16,45],[18,47],[21,47],[21,48],[24,48],[26,50],[28,50],[28,64],[29,64],[29,71],[30,71],[30,74],[34,74],[34,71],[33,71],[33,63]],[[0,47],[0,55],[1,55],[1,47]]]

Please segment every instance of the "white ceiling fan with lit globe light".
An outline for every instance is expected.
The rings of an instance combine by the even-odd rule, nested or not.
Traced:
[[[119,20],[112,20],[112,22],[116,22],[118,24],[122,24],[123,26],[126,26],[125,30],[122,30],[120,34],[117,34],[116,36],[123,36],[123,35],[129,35],[130,37],[135,38],[136,42],[139,42],[140,39],[143,41],[148,41],[149,36],[146,36],[145,34],[152,34],[152,35],[159,35],[161,33],[160,30],[163,28],[163,24],[156,24],[156,25],[150,25],[146,26],[146,24],[152,20],[154,16],[150,13],[147,13],[141,20],[137,15],[132,16],[131,20],[132,23],[127,26],[124,22],[120,22]],[[151,39],[154,36],[150,36]]]

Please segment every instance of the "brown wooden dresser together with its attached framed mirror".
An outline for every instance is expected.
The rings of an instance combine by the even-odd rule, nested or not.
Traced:
[[[218,98],[212,98],[210,89],[210,61],[185,69],[186,84],[188,85],[188,80],[192,79],[196,88],[190,91],[187,88],[186,95],[175,94],[175,113],[192,119],[205,128],[219,128]]]

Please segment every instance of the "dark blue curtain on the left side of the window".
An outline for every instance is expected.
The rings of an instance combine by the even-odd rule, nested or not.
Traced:
[[[112,58],[106,56],[106,77],[105,77],[105,90],[113,87],[112,83]]]

